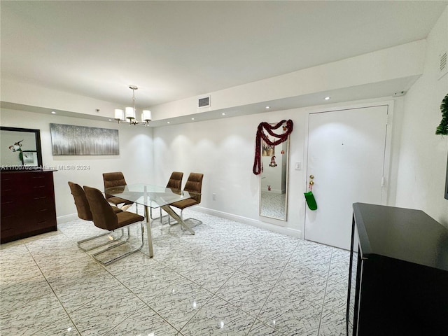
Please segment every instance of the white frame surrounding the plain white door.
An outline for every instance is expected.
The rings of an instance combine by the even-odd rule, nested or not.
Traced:
[[[365,109],[369,107],[387,106],[387,123],[386,123],[386,141],[384,145],[384,167],[383,167],[383,186],[381,188],[381,205],[387,205],[390,196],[391,186],[391,153],[392,153],[392,130],[393,130],[393,100],[384,100],[378,102],[365,102],[354,103],[347,105],[333,105],[333,106],[319,106],[307,111],[304,127],[304,172],[303,174],[303,192],[308,191],[308,143],[309,143],[309,116],[316,113],[337,112],[353,109]],[[306,225],[307,225],[307,204],[304,204],[303,211],[303,234],[302,238],[305,239]]]

